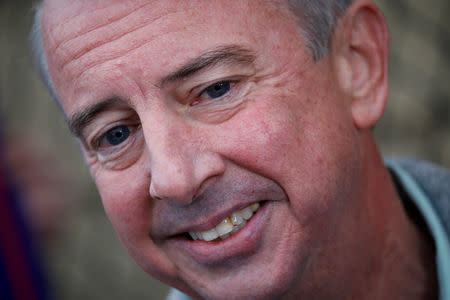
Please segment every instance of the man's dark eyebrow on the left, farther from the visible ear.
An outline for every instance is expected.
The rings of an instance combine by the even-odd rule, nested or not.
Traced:
[[[88,106],[85,109],[82,109],[80,112],[75,113],[69,119],[70,131],[72,131],[72,133],[76,137],[80,137],[82,135],[83,129],[88,126],[96,116],[104,111],[111,109],[114,106],[123,104],[123,102],[123,100],[118,98],[109,98],[102,100],[92,106]]]

